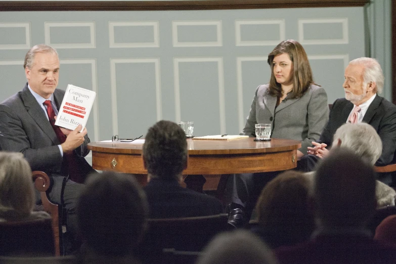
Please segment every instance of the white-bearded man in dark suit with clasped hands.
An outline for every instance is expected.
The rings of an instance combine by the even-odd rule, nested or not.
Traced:
[[[358,58],[345,69],[345,98],[337,99],[331,108],[329,121],[318,142],[312,142],[299,168],[311,171],[320,158],[328,154],[335,131],[346,122],[366,122],[372,125],[382,140],[382,154],[375,163],[384,166],[396,162],[396,106],[377,95],[382,92],[384,76],[379,63],[372,58]],[[379,180],[391,183],[389,175]]]

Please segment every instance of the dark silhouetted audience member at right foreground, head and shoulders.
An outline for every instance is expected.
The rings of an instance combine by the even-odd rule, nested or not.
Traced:
[[[334,149],[316,171],[317,229],[310,241],[275,250],[281,264],[395,263],[396,248],[372,239],[367,228],[376,208],[371,164],[353,152]]]

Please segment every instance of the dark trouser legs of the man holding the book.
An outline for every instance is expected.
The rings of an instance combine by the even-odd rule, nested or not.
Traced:
[[[65,254],[76,253],[81,245],[81,241],[77,237],[77,198],[84,185],[68,180],[64,186],[62,199],[64,177],[54,176],[52,179],[53,185],[49,193],[50,200],[58,204],[63,204],[63,207],[66,209],[66,230],[68,234],[66,236],[67,241],[63,241]]]

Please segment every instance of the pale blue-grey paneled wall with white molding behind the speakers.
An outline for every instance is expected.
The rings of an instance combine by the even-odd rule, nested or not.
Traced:
[[[363,7],[206,11],[0,12],[0,100],[26,81],[27,50],[61,59],[59,88],[97,92],[92,141],[137,137],[160,119],[194,121],[196,136],[238,134],[267,55],[298,40],[328,102],[343,97],[348,61],[365,56]],[[326,106],[324,106],[326,107]]]

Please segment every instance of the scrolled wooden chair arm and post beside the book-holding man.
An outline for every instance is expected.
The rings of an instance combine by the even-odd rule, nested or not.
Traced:
[[[50,177],[47,173],[35,170],[32,172],[34,188],[40,192],[41,203],[46,212],[51,214],[52,217],[52,230],[55,241],[55,255],[60,255],[59,247],[59,206],[58,204],[52,203],[48,197],[46,191],[50,188]]]

